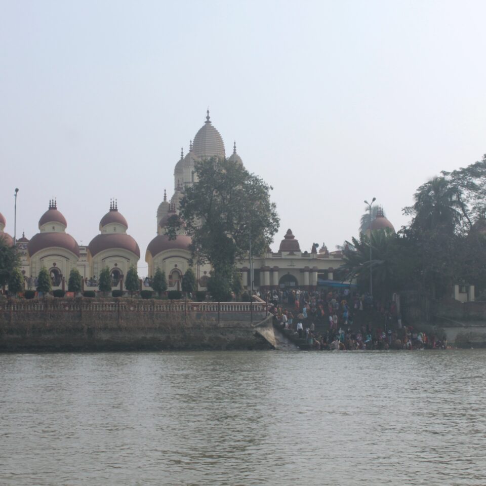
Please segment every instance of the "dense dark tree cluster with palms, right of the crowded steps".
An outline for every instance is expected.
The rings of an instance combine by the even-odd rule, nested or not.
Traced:
[[[412,220],[397,234],[374,230],[344,250],[343,268],[362,291],[369,290],[370,271],[379,298],[414,289],[437,299],[451,295],[453,284],[486,290],[486,155],[422,184],[403,212]]]

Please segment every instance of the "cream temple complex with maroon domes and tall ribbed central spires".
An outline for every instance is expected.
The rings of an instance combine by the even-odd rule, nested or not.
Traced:
[[[181,158],[174,168],[174,193],[168,198],[164,191],[163,200],[156,213],[156,235],[145,252],[148,277],[153,276],[159,267],[167,275],[169,290],[180,289],[182,275],[189,268],[190,237],[184,233],[182,226],[176,239],[170,240],[164,234],[165,226],[171,216],[178,214],[184,189],[197,183],[194,172],[196,161],[212,156],[226,157],[226,151],[223,139],[213,126],[208,111],[204,125],[189,144],[189,151],[185,155],[181,151]],[[235,164],[243,163],[236,153],[236,144],[233,145],[229,160]],[[12,237],[4,232],[5,226],[5,218],[0,214],[0,237],[4,237],[9,245],[13,245]],[[21,270],[28,287],[35,286],[35,278],[39,271],[46,267],[54,289],[67,290],[67,279],[72,268],[79,270],[85,287],[96,288],[97,277],[103,268],[108,267],[113,289],[123,289],[124,276],[131,265],[137,266],[140,259],[139,246],[127,233],[128,223],[118,211],[116,200],[110,201],[109,211],[100,220],[100,233],[88,246],[79,246],[75,239],[66,233],[67,222],[58,210],[55,199],[49,201],[48,210],[39,219],[38,228],[39,232],[30,240],[25,235],[17,240],[17,248],[21,254]],[[371,229],[383,228],[393,230],[392,224],[381,213],[372,222]],[[264,255],[253,257],[254,288],[316,288],[334,280],[335,270],[341,262],[340,251],[329,252],[326,246],[320,247],[317,251],[313,242],[309,242],[308,248],[302,250],[299,241],[289,229],[277,251],[268,248]],[[237,266],[241,270],[243,285],[249,288],[249,260],[239,262]],[[211,266],[194,263],[193,270],[199,289],[205,290]],[[147,280],[145,284],[148,284]]]

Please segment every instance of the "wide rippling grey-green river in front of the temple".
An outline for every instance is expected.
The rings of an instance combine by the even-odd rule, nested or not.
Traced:
[[[486,484],[486,350],[2,354],[0,484]]]

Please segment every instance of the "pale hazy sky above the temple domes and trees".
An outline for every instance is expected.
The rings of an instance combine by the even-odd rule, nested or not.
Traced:
[[[110,197],[140,250],[209,106],[302,250],[398,229],[419,185],[486,152],[486,2],[0,1],[0,212],[57,197],[87,245]]]

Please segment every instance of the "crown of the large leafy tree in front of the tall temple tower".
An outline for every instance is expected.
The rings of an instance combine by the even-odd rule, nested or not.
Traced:
[[[263,254],[278,230],[269,185],[242,165],[211,157],[196,162],[197,183],[185,189],[180,215],[192,238],[191,252],[199,262],[209,262],[215,275],[230,275],[237,259],[253,252]],[[167,234],[174,239],[179,223],[169,221]],[[228,279],[230,282],[231,279]]]

